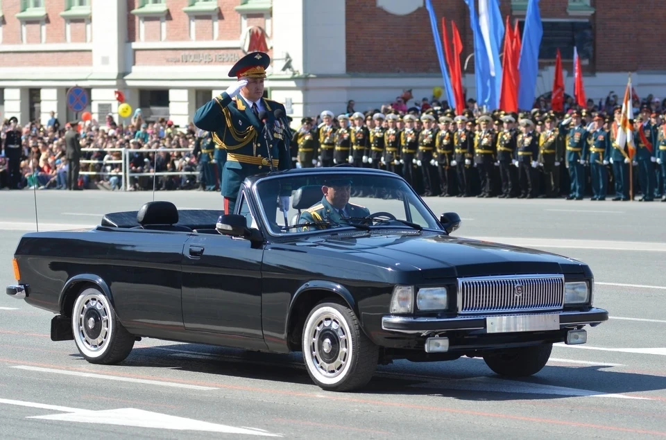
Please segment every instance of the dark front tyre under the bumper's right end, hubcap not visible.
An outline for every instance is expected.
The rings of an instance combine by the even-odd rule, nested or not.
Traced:
[[[495,373],[512,378],[532,376],[545,367],[553,344],[506,349],[502,353],[484,356],[484,361]]]

